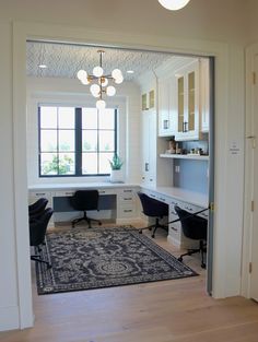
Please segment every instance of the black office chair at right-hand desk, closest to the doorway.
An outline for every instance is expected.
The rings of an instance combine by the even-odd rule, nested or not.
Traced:
[[[175,205],[175,211],[180,220],[184,235],[194,240],[199,240],[199,248],[188,249],[186,253],[180,255],[178,260],[183,261],[183,257],[200,252],[201,267],[206,269],[204,252],[207,251],[208,221],[204,217],[197,216],[179,208],[178,205]]]

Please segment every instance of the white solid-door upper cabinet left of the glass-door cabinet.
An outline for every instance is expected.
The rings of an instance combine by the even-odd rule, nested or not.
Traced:
[[[159,80],[159,135],[172,137],[177,132],[175,110],[175,76]]]

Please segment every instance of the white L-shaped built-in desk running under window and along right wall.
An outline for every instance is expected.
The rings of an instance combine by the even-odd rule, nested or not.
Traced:
[[[169,205],[168,221],[178,219],[174,211],[175,205],[179,205],[180,208],[190,212],[197,212],[208,208],[207,194],[174,187],[148,187],[137,184],[112,182],[44,184],[30,186],[30,203],[34,202],[39,197],[45,197],[49,201],[49,207],[54,208],[54,211],[56,209],[56,212],[58,210],[61,212],[68,212],[69,208],[64,208],[63,210],[60,209],[60,207],[57,204],[57,200],[61,201],[60,198],[62,197],[71,197],[78,189],[97,189],[101,197],[104,198],[104,208],[112,211],[110,219],[114,219],[117,223],[139,220],[141,212],[141,205],[139,204],[139,199],[137,196],[137,191],[139,190]],[[106,205],[110,205],[110,208]],[[206,211],[200,215],[208,219],[208,211]],[[55,219],[55,221],[57,220]],[[173,245],[178,247],[194,247],[192,240],[187,239],[183,235],[179,222],[169,224],[167,239]]]

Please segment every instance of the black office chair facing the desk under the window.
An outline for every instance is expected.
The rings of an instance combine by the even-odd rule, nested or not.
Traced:
[[[83,211],[83,216],[72,221],[72,227],[81,221],[86,221],[89,228],[92,227],[92,222],[97,222],[102,225],[102,222],[95,219],[87,217],[86,211],[98,210],[98,191],[97,190],[78,190],[71,197],[71,205],[74,210]]]

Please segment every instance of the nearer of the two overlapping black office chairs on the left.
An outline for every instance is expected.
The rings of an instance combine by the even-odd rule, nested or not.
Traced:
[[[40,245],[45,243],[47,225],[51,219],[52,209],[47,208],[40,214],[40,216],[30,219],[30,245],[35,248],[36,255],[31,256],[31,260],[43,262],[47,264],[47,268],[51,268],[51,263],[47,260],[43,260],[40,257]]]

